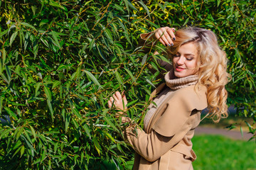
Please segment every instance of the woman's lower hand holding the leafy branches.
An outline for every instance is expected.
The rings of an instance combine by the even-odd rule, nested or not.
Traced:
[[[124,95],[124,92],[121,95],[119,91],[116,91],[114,93],[113,97],[110,97],[110,100],[107,101],[109,108],[112,107],[113,102],[114,102],[114,106],[116,108],[118,108],[119,110],[121,110],[121,111],[126,111],[127,110],[127,98]],[[123,105],[123,103],[124,103],[124,105]],[[119,113],[119,114],[122,114],[122,113]]]

